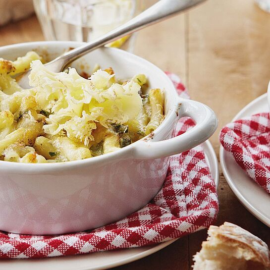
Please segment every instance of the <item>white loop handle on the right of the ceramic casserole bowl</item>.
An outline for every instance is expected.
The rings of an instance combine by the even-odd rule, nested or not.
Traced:
[[[133,158],[159,159],[189,150],[210,138],[217,128],[217,117],[208,106],[179,98],[178,118],[188,116],[195,120],[196,125],[187,132],[174,138],[151,142],[140,140],[134,145]]]

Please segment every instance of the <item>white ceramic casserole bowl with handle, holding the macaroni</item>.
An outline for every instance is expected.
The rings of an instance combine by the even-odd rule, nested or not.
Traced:
[[[14,59],[36,50],[49,58],[77,42],[34,42],[0,48],[0,57]],[[63,163],[0,161],[0,230],[26,234],[81,231],[116,221],[146,205],[160,190],[168,157],[207,140],[217,118],[207,106],[180,99],[165,73],[152,63],[118,49],[103,48],[72,66],[81,70],[99,63],[112,67],[118,78],[147,75],[152,88],[165,93],[165,119],[153,136],[103,156]],[[172,138],[182,116],[197,125]]]

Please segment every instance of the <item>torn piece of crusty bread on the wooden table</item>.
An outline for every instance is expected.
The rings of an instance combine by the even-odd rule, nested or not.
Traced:
[[[225,222],[210,226],[208,235],[193,270],[270,270],[268,246],[252,233]]]

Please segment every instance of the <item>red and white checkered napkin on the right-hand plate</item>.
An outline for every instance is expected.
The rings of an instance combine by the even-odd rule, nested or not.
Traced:
[[[220,142],[247,174],[270,193],[270,119],[259,113],[227,124]]]

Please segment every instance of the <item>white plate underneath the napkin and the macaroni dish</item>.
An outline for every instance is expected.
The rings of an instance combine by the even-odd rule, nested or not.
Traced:
[[[218,184],[218,162],[215,151],[209,141],[203,143],[206,160]],[[7,259],[0,260],[0,270],[103,270],[124,265],[170,245],[175,240],[164,242],[155,246],[132,248],[116,251],[98,252],[77,256],[55,257],[45,259]]]

